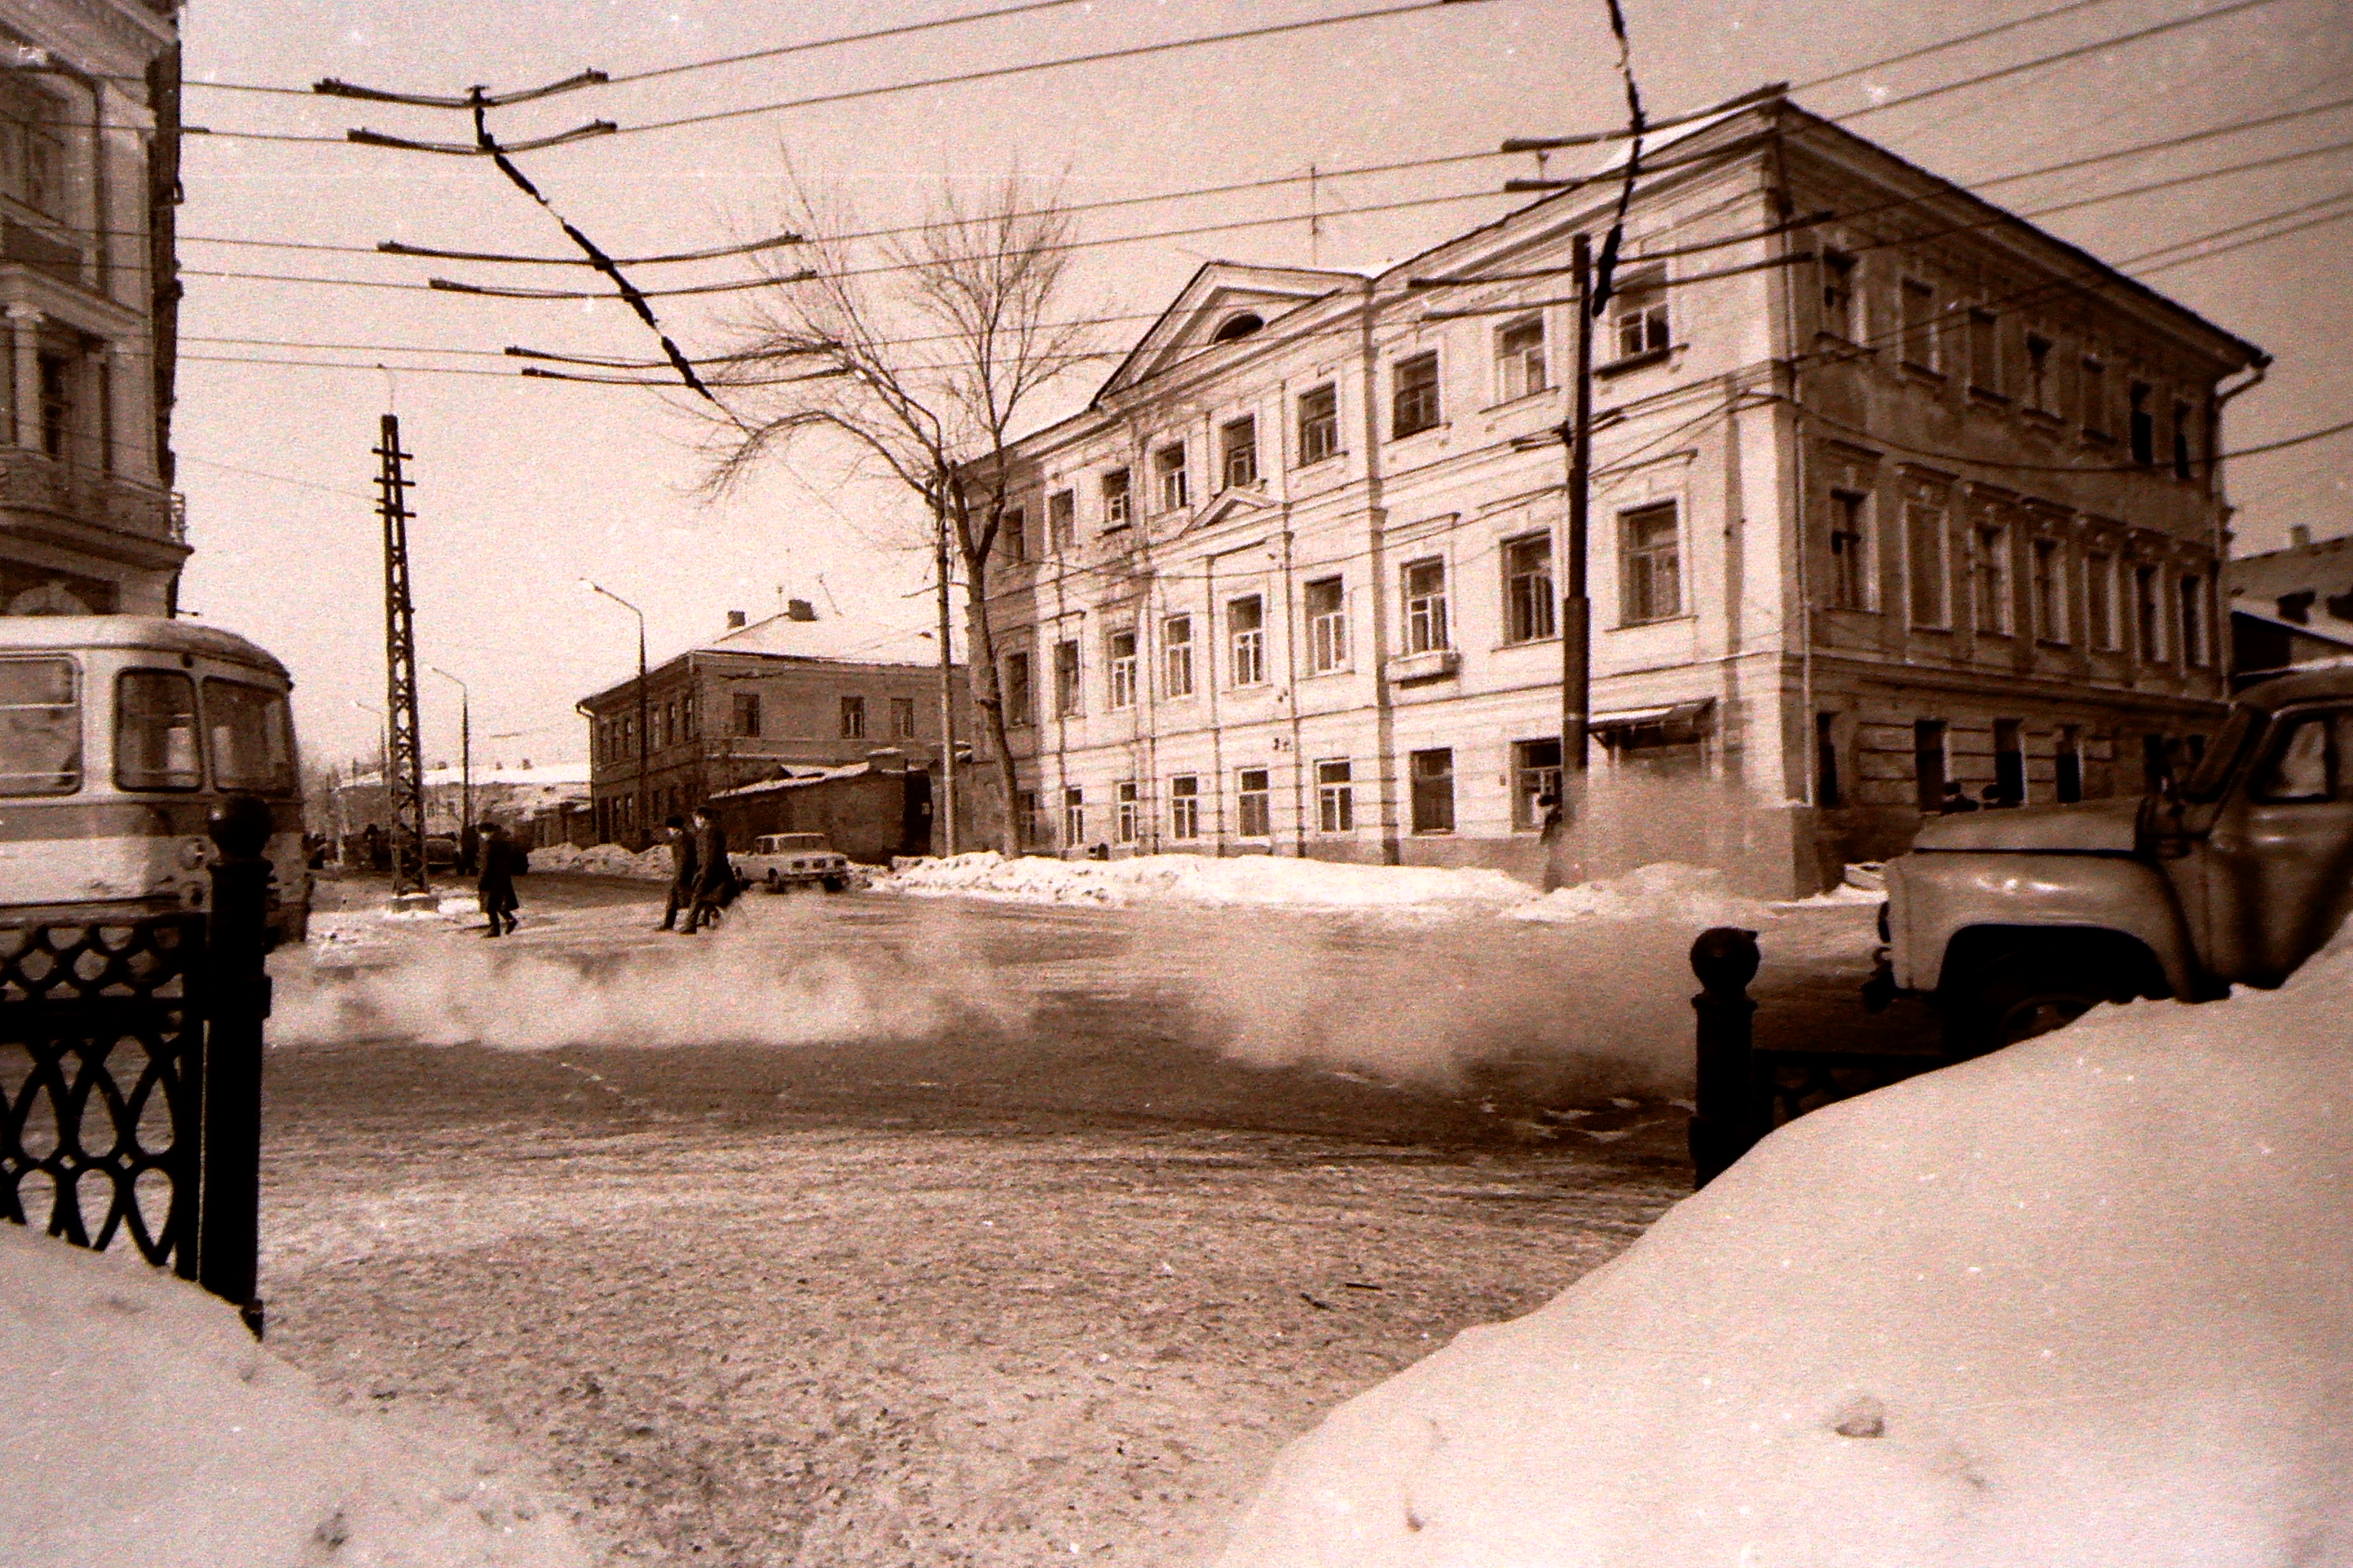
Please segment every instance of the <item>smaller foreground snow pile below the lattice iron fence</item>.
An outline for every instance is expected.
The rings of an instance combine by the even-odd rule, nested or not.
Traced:
[[[0,1561],[9,1568],[584,1568],[485,1450],[346,1410],[195,1286],[0,1225]]]

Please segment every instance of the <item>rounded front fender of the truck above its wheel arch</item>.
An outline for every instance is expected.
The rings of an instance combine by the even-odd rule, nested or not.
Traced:
[[[2132,938],[2177,997],[2198,997],[2198,947],[2172,884],[2127,856],[1906,856],[1897,985],[1934,992],[1955,938],[1977,926],[2052,926]],[[1897,870],[1892,865],[1889,870]]]

